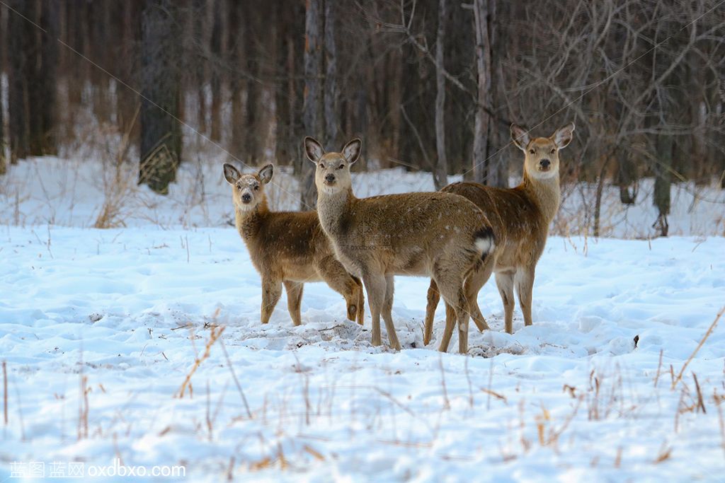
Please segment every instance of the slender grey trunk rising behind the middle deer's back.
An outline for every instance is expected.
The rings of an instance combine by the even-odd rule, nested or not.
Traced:
[[[444,71],[444,42],[446,38],[447,1],[438,2],[438,33],[436,35],[436,151],[438,161],[433,170],[436,190],[448,184],[448,159],[446,157],[446,78]]]

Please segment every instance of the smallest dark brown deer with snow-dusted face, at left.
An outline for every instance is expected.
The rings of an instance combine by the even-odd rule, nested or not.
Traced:
[[[363,284],[345,272],[315,211],[270,211],[265,185],[272,180],[272,164],[256,175],[242,175],[224,164],[224,178],[232,186],[236,229],[249,250],[249,258],[262,276],[262,324],[287,292],[287,308],[295,325],[302,323],[299,304],[305,282],[324,280],[347,302],[347,318],[362,325],[365,316]]]

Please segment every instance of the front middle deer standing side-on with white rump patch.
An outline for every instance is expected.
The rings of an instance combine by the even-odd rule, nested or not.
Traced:
[[[392,319],[394,275],[433,277],[458,323],[461,353],[468,351],[468,310],[463,282],[494,248],[491,224],[471,201],[449,193],[405,193],[355,198],[350,166],[361,142],[325,153],[305,138],[307,158],[317,165],[318,217],[339,261],[363,279],[373,316],[373,345],[381,344],[380,316],[399,350]]]

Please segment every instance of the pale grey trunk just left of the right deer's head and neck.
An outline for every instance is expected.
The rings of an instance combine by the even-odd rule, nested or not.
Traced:
[[[491,93],[491,38],[489,35],[489,0],[473,0],[473,26],[476,30],[476,71],[478,72],[476,120],[473,127],[473,180],[484,185],[498,185],[496,170],[488,158],[489,106]]]

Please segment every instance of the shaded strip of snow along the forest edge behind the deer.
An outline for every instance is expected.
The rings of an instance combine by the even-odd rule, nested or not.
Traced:
[[[113,152],[113,146],[107,148]],[[513,148],[511,148],[513,149]],[[106,152],[107,151],[102,151]],[[103,162],[98,162],[103,159]],[[136,185],[131,164],[115,167],[112,154],[98,149],[71,159],[23,161],[0,178],[0,224],[60,224],[75,227],[220,227],[233,220],[231,194],[222,177],[218,154],[196,155],[181,165],[170,194],[159,197]],[[449,181],[460,181],[460,176]],[[510,185],[519,180],[512,178]],[[653,180],[639,182],[637,203],[625,206],[619,190],[607,186],[602,194],[600,234],[615,238],[653,238],[657,209],[652,203]],[[432,191],[426,172],[384,169],[353,173],[357,196],[406,191]],[[289,167],[278,167],[268,189],[273,209],[298,209],[297,179]],[[725,236],[725,190],[694,183],[672,186],[670,235]],[[564,237],[591,236],[594,227],[595,185],[564,185],[563,202],[551,232]],[[107,207],[107,214],[101,216]],[[103,219],[101,225],[96,225]]]

